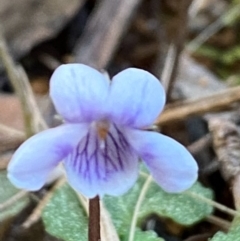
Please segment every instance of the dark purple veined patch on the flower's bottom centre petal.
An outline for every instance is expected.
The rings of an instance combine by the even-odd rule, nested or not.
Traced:
[[[105,139],[98,136],[95,128],[90,129],[67,162],[89,183],[95,179],[107,181],[111,173],[124,171],[131,152],[122,131],[112,124]]]

